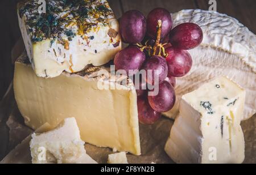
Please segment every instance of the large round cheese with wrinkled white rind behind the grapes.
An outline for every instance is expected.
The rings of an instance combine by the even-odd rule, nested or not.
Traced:
[[[226,75],[246,90],[245,111],[242,120],[256,112],[256,36],[236,19],[214,11],[181,10],[172,14],[174,27],[192,22],[203,29],[201,45],[189,50],[193,66],[188,75],[177,78],[177,103],[166,116],[175,118],[179,99],[200,84]]]

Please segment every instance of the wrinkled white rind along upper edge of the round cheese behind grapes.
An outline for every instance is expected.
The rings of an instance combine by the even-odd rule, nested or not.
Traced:
[[[228,15],[215,11],[181,10],[172,15],[174,27],[190,22],[204,32],[201,46],[210,46],[237,54],[256,73],[256,36],[247,27]]]

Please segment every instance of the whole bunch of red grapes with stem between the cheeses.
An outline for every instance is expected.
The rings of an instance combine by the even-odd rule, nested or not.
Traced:
[[[175,104],[176,77],[184,76],[192,66],[192,58],[187,52],[200,45],[203,32],[199,25],[183,23],[172,29],[172,18],[168,10],[155,8],[147,18],[138,10],[130,10],[120,19],[122,41],[130,44],[115,55],[116,70],[151,70],[157,74],[142,77],[137,91],[139,121],[152,124],[162,112],[172,109]],[[157,70],[157,71],[156,71]],[[149,96],[149,91],[142,89],[146,84],[158,83],[158,95]]]

